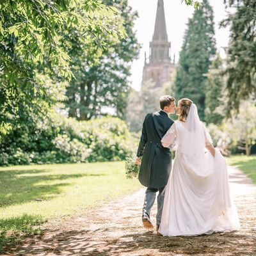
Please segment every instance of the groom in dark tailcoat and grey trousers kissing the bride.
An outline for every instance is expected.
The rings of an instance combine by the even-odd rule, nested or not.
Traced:
[[[165,186],[172,168],[170,149],[162,146],[161,139],[173,124],[168,114],[175,113],[173,97],[164,95],[159,101],[161,110],[145,116],[136,159],[136,163],[141,164],[139,180],[143,186],[147,187],[142,213],[145,228],[154,228],[150,221],[150,210],[154,205],[156,192],[159,192],[156,215],[157,231],[163,211]]]

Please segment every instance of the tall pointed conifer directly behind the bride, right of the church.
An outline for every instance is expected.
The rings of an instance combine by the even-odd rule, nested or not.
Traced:
[[[204,120],[205,82],[209,65],[216,52],[213,11],[209,1],[204,0],[189,19],[188,29],[180,51],[179,67],[175,81],[175,97],[187,97],[198,106]]]

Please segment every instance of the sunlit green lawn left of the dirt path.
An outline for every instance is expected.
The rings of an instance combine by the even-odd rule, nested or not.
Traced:
[[[0,252],[40,223],[79,214],[141,188],[125,179],[124,162],[0,168]]]

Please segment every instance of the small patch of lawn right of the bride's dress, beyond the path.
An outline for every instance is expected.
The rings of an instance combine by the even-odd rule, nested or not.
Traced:
[[[226,159],[229,165],[243,171],[256,184],[256,156],[230,156]]]

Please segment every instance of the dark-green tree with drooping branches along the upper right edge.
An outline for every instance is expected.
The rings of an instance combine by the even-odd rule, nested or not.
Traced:
[[[227,115],[239,109],[241,100],[256,96],[256,1],[230,0],[226,7],[232,8],[222,26],[230,25],[230,41],[227,49]]]

